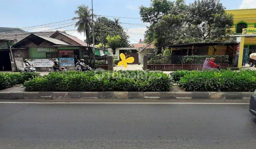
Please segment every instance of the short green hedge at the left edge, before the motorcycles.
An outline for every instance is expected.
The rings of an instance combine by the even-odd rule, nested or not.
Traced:
[[[10,88],[15,84],[23,84],[34,77],[39,76],[39,73],[0,73],[0,90]]]

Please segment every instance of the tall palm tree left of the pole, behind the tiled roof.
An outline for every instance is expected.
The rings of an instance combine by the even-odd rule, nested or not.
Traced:
[[[92,27],[92,11],[86,5],[78,6],[78,10],[75,11],[77,17],[73,17],[73,20],[78,20],[75,23],[75,27],[77,27],[77,31],[79,33],[84,33],[87,40],[87,45],[89,46],[89,33]]]

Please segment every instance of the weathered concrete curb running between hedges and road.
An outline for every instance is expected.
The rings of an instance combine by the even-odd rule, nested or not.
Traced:
[[[253,92],[0,92],[0,99],[250,99]]]

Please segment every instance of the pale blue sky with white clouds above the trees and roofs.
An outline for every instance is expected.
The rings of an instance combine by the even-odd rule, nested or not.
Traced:
[[[194,0],[186,0],[187,3]],[[256,0],[221,0],[226,9],[256,8]],[[91,7],[91,0],[1,0],[0,12],[3,15],[0,27],[31,27],[46,23],[69,20],[75,16],[74,11],[78,5],[85,4]],[[94,0],[96,15],[120,16],[139,18],[138,7],[149,6],[150,0]],[[112,17],[109,17],[113,19]],[[120,18],[121,23],[136,23],[139,25],[123,24],[130,35],[130,42],[137,43],[143,39],[145,23],[139,19]],[[48,29],[72,25],[72,21],[56,23],[56,26],[43,26],[42,28],[24,29],[26,31],[45,31]],[[58,26],[59,25],[59,26]],[[58,30],[66,31],[83,39],[83,35],[74,31],[74,26]]]

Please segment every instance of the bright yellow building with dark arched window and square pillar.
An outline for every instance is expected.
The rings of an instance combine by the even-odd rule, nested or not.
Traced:
[[[243,28],[256,28],[256,9],[226,10],[234,15],[234,27],[236,37],[241,37],[238,67],[242,66],[243,48],[248,48],[246,56],[256,53],[256,35],[242,35]]]

